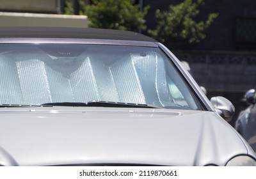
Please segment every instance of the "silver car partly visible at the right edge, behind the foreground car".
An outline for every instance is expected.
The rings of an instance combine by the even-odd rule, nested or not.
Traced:
[[[256,93],[255,89],[246,91],[241,103],[247,106],[237,117],[235,128],[256,152]]]

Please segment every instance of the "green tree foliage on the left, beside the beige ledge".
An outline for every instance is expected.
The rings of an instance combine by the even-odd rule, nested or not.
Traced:
[[[72,4],[66,3],[66,14],[74,13]],[[140,11],[135,0],[92,0],[92,4],[79,1],[79,14],[87,15],[89,27],[139,31],[146,29],[145,15],[149,6]]]

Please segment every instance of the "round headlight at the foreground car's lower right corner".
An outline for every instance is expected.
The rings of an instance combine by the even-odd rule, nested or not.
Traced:
[[[229,160],[226,166],[256,166],[256,161],[252,157],[239,155]]]

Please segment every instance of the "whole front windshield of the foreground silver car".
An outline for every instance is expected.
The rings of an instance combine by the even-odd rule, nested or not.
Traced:
[[[90,44],[0,45],[0,103],[91,101],[202,110],[156,47]]]

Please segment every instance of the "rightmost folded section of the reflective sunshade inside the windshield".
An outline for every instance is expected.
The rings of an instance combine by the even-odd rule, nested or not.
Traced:
[[[131,54],[131,58],[140,79],[147,104],[165,106],[166,102],[172,102],[163,58],[156,52]],[[152,95],[152,91],[149,91],[149,89],[154,89],[156,93]]]

